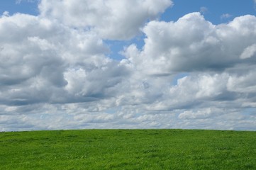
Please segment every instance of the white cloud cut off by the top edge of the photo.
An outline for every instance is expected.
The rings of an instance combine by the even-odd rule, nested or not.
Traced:
[[[56,18],[67,26],[90,27],[102,38],[126,40],[138,35],[148,19],[171,5],[170,0],[43,0],[39,8],[41,16]]]

